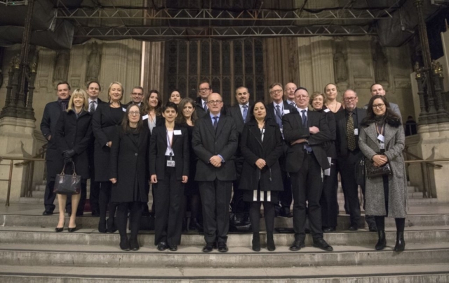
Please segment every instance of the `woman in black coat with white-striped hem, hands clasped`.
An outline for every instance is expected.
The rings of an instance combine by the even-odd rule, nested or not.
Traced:
[[[279,126],[267,119],[267,106],[256,102],[250,109],[250,121],[243,127],[241,153],[245,158],[239,188],[245,190],[243,200],[251,202],[250,220],[253,227],[253,250],[260,251],[260,205],[264,205],[267,226],[267,249],[274,251],[274,204],[283,190],[279,157],[282,154]]]

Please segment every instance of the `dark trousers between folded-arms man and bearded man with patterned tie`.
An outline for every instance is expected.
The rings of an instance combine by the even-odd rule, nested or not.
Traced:
[[[338,216],[338,179],[337,160],[333,159],[330,165],[330,175],[324,176],[323,193],[321,194],[321,222],[323,227],[336,227]]]

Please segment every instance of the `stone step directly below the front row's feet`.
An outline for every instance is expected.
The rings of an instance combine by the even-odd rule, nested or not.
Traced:
[[[76,266],[97,268],[294,268],[356,265],[449,264],[449,243],[408,244],[397,253],[389,246],[337,246],[324,252],[305,247],[298,252],[279,246],[276,251],[255,252],[250,247],[229,247],[229,252],[201,252],[202,247],[179,247],[178,251],[120,251],[118,247],[57,244],[0,244],[0,265]],[[232,270],[229,270],[232,272]]]

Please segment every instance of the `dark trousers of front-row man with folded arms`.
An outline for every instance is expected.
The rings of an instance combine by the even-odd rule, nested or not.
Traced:
[[[301,162],[298,160],[298,162]],[[306,237],[306,201],[312,237],[323,238],[320,198],[323,191],[321,167],[313,153],[305,153],[299,172],[290,173],[293,191],[293,229],[295,240]]]

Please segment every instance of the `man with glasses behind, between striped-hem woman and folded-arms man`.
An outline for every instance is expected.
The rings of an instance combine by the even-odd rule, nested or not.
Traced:
[[[283,101],[283,90],[281,83],[273,83],[269,86],[269,96],[272,97],[273,102],[267,105],[267,117],[272,118],[275,121],[282,132],[282,116],[290,112],[296,112],[295,106],[288,104],[288,102]],[[281,165],[281,174],[283,181],[283,191],[279,192],[279,200],[281,202],[281,207],[276,207],[279,215],[284,217],[293,217],[290,212],[290,205],[292,205],[292,186],[290,183],[290,177],[286,172],[286,151],[287,144],[284,144],[284,151],[279,158],[279,164]]]

